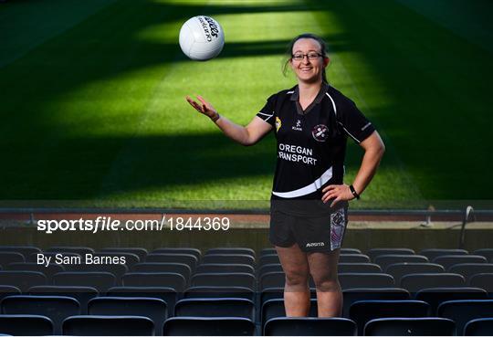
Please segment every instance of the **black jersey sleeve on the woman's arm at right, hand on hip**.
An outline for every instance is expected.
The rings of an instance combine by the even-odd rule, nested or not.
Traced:
[[[343,100],[340,107],[337,111],[337,122],[354,142],[364,141],[375,131],[372,122],[364,117],[352,100]]]

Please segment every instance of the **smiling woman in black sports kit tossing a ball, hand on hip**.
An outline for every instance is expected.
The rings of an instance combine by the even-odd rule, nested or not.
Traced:
[[[219,115],[197,96],[186,100],[208,116],[228,137],[253,145],[274,130],[278,163],[271,197],[269,240],[286,273],[287,316],[308,316],[309,275],[317,290],[319,317],[341,315],[342,294],[337,277],[341,241],[347,226],[348,201],[372,180],[383,156],[378,132],[355,104],[330,87],[325,68],[330,62],[324,41],[312,34],[295,37],[286,65],[298,85],[270,96],[246,126]],[[364,150],[352,184],[343,184],[346,140]]]

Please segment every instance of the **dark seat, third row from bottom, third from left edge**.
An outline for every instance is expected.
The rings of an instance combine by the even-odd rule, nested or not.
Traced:
[[[112,287],[106,293],[109,297],[145,297],[164,300],[168,308],[168,315],[174,312],[174,304],[178,300],[178,293],[167,287]]]

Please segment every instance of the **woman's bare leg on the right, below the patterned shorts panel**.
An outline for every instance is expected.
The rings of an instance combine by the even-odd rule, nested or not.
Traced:
[[[317,287],[319,317],[339,317],[342,292],[337,277],[339,249],[328,253],[309,253],[309,271]]]

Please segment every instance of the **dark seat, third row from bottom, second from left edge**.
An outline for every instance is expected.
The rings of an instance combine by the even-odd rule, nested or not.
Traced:
[[[37,286],[27,290],[27,294],[36,296],[65,296],[79,301],[80,313],[88,313],[88,302],[100,292],[92,287]]]

